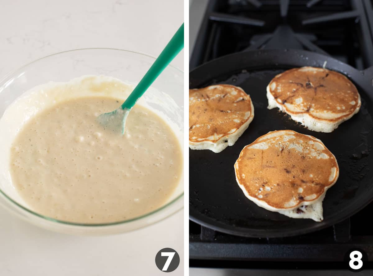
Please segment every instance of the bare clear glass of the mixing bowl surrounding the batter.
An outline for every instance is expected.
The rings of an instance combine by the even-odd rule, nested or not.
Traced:
[[[66,51],[35,60],[9,73],[0,81],[0,117],[4,110],[23,93],[36,85],[50,81],[67,82],[83,75],[106,75],[124,82],[136,84],[153,64],[155,58],[132,51],[90,48]],[[167,66],[143,97],[158,98],[154,109],[164,113],[176,126],[183,148],[183,84],[184,73]],[[167,98],[167,101],[164,99]],[[163,99],[163,100],[162,100]],[[172,107],[164,102],[174,102]],[[71,235],[105,235],[122,233],[158,222],[184,206],[183,174],[173,195],[157,210],[134,219],[115,223],[83,224],[70,223],[43,216],[30,210],[17,194],[11,181],[0,176],[0,204],[22,219],[45,229]]]

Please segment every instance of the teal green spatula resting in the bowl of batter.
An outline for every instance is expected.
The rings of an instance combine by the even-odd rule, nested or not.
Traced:
[[[174,57],[184,48],[184,23],[180,26],[175,35],[160,53],[159,57],[150,67],[145,76],[137,84],[125,102],[116,110],[101,114],[97,117],[98,122],[106,129],[110,129],[121,134],[124,133],[126,119],[138,99],[145,93],[150,85],[162,73],[164,68],[174,59]]]

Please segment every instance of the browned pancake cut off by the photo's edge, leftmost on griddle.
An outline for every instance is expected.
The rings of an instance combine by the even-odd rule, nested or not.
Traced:
[[[219,153],[232,146],[254,118],[251,98],[240,87],[211,85],[189,90],[189,148]]]

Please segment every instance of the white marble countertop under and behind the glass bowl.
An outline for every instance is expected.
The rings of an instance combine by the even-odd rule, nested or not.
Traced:
[[[183,22],[182,0],[3,1],[0,79],[49,54],[77,48],[120,48],[157,56]],[[183,53],[173,65],[183,68]],[[0,208],[0,275],[164,275],[154,258],[174,248],[184,275],[183,211],[114,236],[77,237],[32,226]]]

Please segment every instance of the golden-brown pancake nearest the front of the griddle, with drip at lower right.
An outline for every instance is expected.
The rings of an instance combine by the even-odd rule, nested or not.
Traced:
[[[245,196],[293,218],[323,220],[322,201],[338,179],[335,156],[319,139],[272,131],[244,147],[234,165]]]

